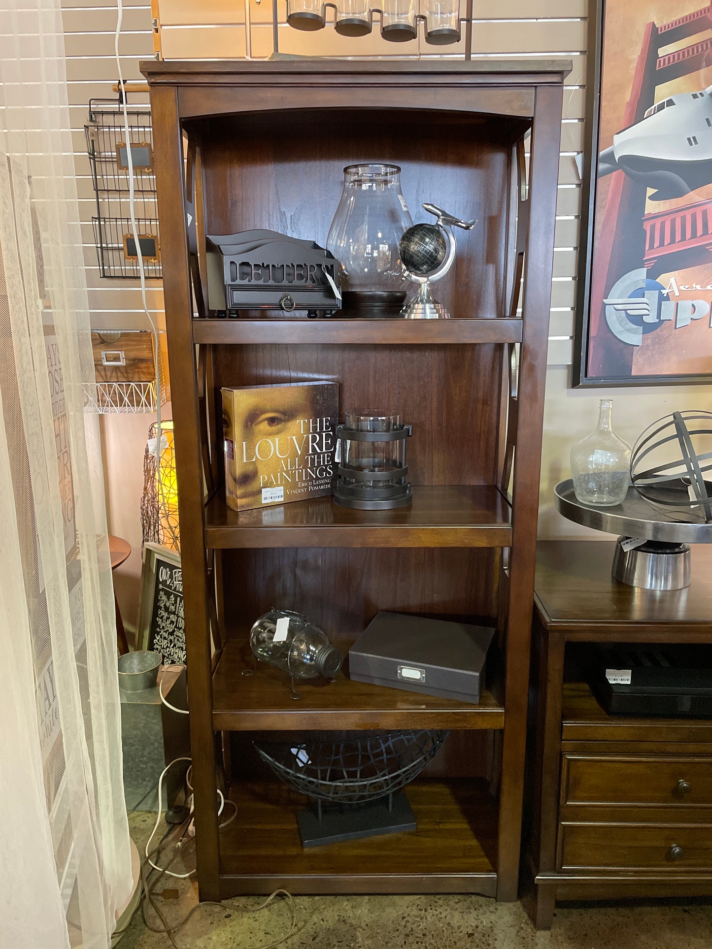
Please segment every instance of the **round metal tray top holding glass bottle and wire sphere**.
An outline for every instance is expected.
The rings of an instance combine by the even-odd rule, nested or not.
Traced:
[[[554,494],[556,510],[575,524],[587,528],[670,544],[712,544],[712,524],[665,520],[632,487],[628,488],[623,504],[612,508],[582,504],[573,493],[571,478],[559,482]]]

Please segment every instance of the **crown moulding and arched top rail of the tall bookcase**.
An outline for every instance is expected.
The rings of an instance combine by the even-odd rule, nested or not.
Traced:
[[[535,88],[563,84],[571,60],[149,60],[141,72],[152,95],[160,87],[178,89],[181,120],[293,109],[410,109],[529,124]]]

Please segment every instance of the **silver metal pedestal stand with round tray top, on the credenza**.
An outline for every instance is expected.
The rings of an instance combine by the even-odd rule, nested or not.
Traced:
[[[554,494],[556,510],[570,521],[620,535],[612,573],[629,586],[651,590],[689,586],[689,545],[712,543],[712,524],[665,520],[634,488],[628,488],[623,504],[612,508],[582,504],[573,493],[571,478],[557,484]]]

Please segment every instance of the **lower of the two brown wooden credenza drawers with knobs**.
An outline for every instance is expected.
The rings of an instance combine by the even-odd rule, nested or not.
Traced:
[[[642,827],[562,824],[558,868],[655,869],[671,873],[712,868],[712,826]]]

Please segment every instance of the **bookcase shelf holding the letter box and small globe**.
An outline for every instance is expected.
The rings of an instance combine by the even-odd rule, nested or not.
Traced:
[[[462,344],[520,343],[516,317],[474,320],[279,320],[193,321],[195,343]]]

